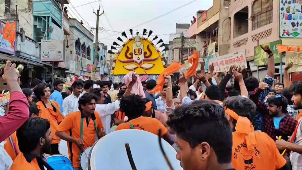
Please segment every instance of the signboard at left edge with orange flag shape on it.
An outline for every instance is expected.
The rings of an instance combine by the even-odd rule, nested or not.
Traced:
[[[0,20],[0,51],[16,54],[16,22],[11,25]]]

